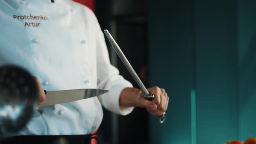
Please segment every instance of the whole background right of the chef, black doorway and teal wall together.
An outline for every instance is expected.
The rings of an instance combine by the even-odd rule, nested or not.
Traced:
[[[104,111],[109,144],[224,144],[256,137],[256,1],[96,0],[109,29],[147,87],[165,88],[167,119],[142,108]],[[137,85],[109,45],[113,65]]]

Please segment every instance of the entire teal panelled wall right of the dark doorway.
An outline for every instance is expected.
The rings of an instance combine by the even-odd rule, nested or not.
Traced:
[[[253,0],[148,1],[150,86],[170,97],[165,123],[150,117],[151,144],[256,136],[255,6]]]

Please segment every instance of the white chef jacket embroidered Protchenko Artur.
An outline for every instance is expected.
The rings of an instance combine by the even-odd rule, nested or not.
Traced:
[[[121,91],[132,85],[110,64],[94,13],[72,0],[0,0],[0,65],[7,64],[27,69],[46,91],[110,91],[39,108],[20,135],[89,134],[102,121],[101,104],[121,115],[133,110],[119,108]]]

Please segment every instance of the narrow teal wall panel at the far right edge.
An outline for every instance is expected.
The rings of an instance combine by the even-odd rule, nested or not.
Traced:
[[[256,1],[238,0],[240,139],[256,137]]]

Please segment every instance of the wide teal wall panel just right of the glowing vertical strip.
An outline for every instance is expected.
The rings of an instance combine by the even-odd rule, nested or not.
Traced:
[[[197,144],[238,138],[234,0],[195,1]]]

